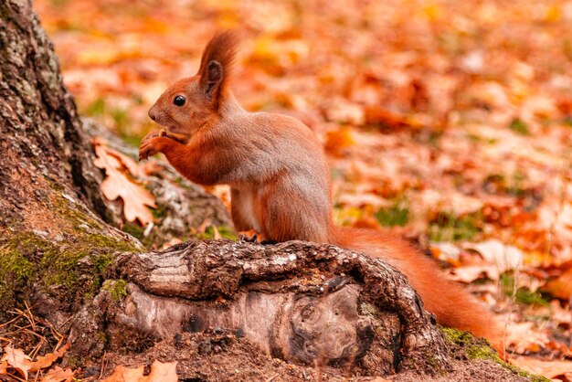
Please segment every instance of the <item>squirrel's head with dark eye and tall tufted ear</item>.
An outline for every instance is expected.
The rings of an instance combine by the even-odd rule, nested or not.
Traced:
[[[237,47],[238,37],[233,31],[213,37],[196,75],[178,80],[165,90],[149,110],[149,117],[172,133],[189,136],[215,121],[228,92]]]

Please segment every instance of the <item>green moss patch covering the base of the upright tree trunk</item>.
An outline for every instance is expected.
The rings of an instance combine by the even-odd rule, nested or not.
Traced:
[[[0,239],[0,311],[34,285],[69,305],[97,292],[116,252],[143,249],[136,241],[104,235],[90,211],[55,190],[45,204],[54,215],[51,235],[22,231]]]

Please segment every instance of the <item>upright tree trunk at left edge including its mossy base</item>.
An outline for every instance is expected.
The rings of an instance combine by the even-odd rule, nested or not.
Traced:
[[[112,253],[142,247],[104,222],[101,171],[30,1],[0,3],[0,69],[0,319],[25,300],[71,313]]]

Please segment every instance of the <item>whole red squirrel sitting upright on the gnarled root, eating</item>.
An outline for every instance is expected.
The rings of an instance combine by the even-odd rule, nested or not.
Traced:
[[[149,117],[166,130],[143,138],[140,160],[163,153],[197,184],[229,185],[237,230],[254,230],[259,241],[331,243],[387,261],[440,324],[503,350],[493,314],[446,281],[433,260],[387,233],[334,226],[328,165],[312,131],[290,116],[246,111],[228,89],[237,46],[233,32],[213,37],[196,75],[164,91]]]

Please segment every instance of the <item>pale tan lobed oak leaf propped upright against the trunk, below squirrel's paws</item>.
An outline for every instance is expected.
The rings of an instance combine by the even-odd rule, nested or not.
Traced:
[[[156,207],[154,196],[125,173],[123,167],[129,164],[123,163],[122,157],[116,155],[114,150],[101,141],[94,141],[93,144],[97,156],[93,163],[104,169],[106,175],[100,185],[103,195],[109,200],[122,197],[123,214],[127,221],[139,220],[143,226],[153,222],[153,214],[148,207]]]

